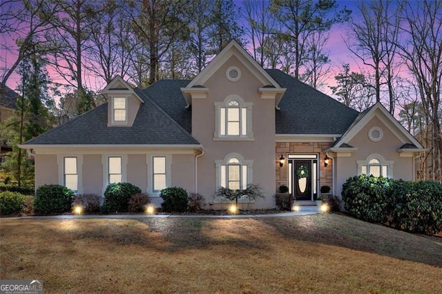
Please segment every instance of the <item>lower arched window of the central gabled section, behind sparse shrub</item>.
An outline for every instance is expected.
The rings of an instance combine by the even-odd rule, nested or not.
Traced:
[[[253,160],[245,160],[238,153],[230,153],[222,160],[215,161],[216,188],[244,190],[253,183]],[[223,199],[215,199],[222,201]]]

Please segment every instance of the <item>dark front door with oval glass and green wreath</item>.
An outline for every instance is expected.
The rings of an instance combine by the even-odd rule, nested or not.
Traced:
[[[296,160],[293,175],[296,200],[311,200],[311,161]]]

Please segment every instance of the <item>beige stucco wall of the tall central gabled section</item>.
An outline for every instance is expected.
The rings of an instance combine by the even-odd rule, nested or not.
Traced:
[[[239,81],[229,81],[226,71],[237,66],[241,71]],[[253,207],[274,207],[275,194],[275,101],[262,99],[258,88],[263,85],[242,61],[232,56],[204,83],[209,88],[206,99],[192,100],[192,135],[204,146],[204,156],[198,159],[198,193],[208,202],[213,199],[217,187],[215,161],[231,153],[238,153],[244,160],[253,161],[253,183],[260,184],[266,198],[259,199]],[[251,110],[252,138],[244,141],[222,141],[214,137],[215,103],[229,95],[238,95],[244,103],[253,103]],[[214,207],[215,208],[215,207]]]

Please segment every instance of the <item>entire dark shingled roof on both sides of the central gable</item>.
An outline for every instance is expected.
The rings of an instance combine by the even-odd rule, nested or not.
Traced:
[[[287,88],[276,110],[276,134],[343,134],[358,112],[280,70],[267,70]],[[108,127],[107,104],[76,117],[26,144],[200,144],[191,136],[192,113],[180,88],[189,80],[161,80],[140,90],[144,101],[133,126]]]

